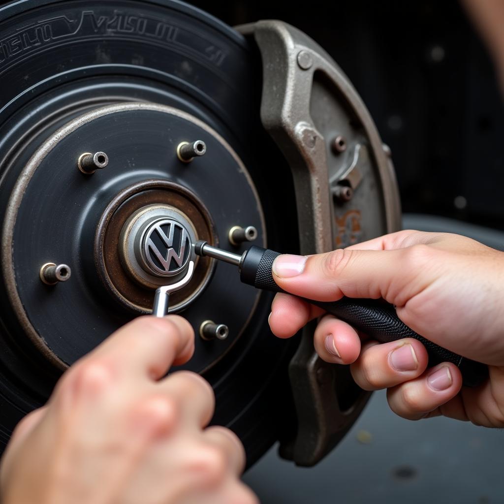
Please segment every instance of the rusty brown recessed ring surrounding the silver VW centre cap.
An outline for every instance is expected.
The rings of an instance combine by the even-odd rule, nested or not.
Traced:
[[[150,313],[153,289],[174,283],[180,275],[166,278],[156,277],[152,272],[143,274],[138,264],[129,259],[127,235],[142,212],[161,217],[163,210],[169,209],[179,214],[179,221],[188,223],[184,227],[190,230],[192,239],[218,242],[215,225],[204,204],[194,193],[169,180],[146,180],[125,188],[107,206],[97,226],[94,257],[100,278],[117,299],[136,311]],[[197,261],[191,281],[171,295],[170,311],[179,311],[194,301],[210,280],[215,262],[208,258]]]

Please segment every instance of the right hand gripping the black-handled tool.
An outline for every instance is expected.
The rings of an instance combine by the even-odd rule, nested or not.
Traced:
[[[348,324],[322,318],[314,334],[320,357],[351,364],[355,382],[365,390],[387,388],[398,415],[445,415],[504,427],[503,253],[463,236],[400,231],[307,259],[280,256],[273,273],[282,289],[310,299],[382,297],[418,334],[489,364],[487,383],[461,389],[454,364],[426,369],[427,352],[419,341],[378,344],[363,337],[361,344]],[[288,338],[323,314],[299,298],[277,294],[270,327]]]

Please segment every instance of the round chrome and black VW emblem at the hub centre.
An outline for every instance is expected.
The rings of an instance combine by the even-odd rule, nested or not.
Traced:
[[[191,258],[189,233],[173,219],[161,219],[149,225],[142,248],[146,263],[158,276],[170,277],[180,273]]]

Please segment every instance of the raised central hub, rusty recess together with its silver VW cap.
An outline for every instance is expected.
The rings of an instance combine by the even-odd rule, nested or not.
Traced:
[[[212,261],[197,258],[191,246],[185,243],[184,252],[187,255],[182,258],[183,267],[170,271],[169,275],[162,275],[158,271],[162,266],[159,260],[154,257],[149,263],[147,257],[155,256],[157,250],[166,259],[172,247],[165,245],[156,233],[154,245],[157,243],[157,246],[151,247],[149,254],[145,250],[150,227],[155,227],[158,219],[179,223],[190,240],[208,238],[213,243],[218,242],[217,229],[208,209],[181,184],[162,179],[147,180],[119,192],[106,207],[98,223],[94,244],[95,263],[109,292],[124,306],[142,313],[152,310],[153,289],[183,278],[191,259],[198,268],[185,287],[171,294],[171,312],[180,311],[194,301],[208,284],[215,268]],[[174,249],[174,252],[180,254],[180,250]]]

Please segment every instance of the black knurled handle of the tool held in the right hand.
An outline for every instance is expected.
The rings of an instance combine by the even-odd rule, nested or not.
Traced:
[[[253,261],[246,264],[248,271],[251,271],[253,268],[256,269],[254,287],[273,292],[285,292],[275,283],[272,275],[273,261],[280,254],[266,249],[262,256],[260,256],[258,248],[254,247],[254,253],[250,254],[250,259],[253,259]],[[247,257],[245,257],[244,263],[247,262],[246,260]],[[252,262],[255,264],[251,264]],[[244,279],[242,278],[242,280]],[[252,283],[250,280],[251,278],[247,278],[246,283]],[[365,333],[380,343],[388,343],[403,338],[415,338],[427,349],[429,366],[440,362],[453,362],[462,371],[463,383],[468,387],[480,385],[488,376],[488,367],[486,365],[461,357],[415,333],[415,331],[399,319],[394,306],[382,299],[343,298],[339,301],[331,302],[313,301],[310,299],[306,299],[306,301],[320,306],[328,313],[348,322],[358,331]]]

